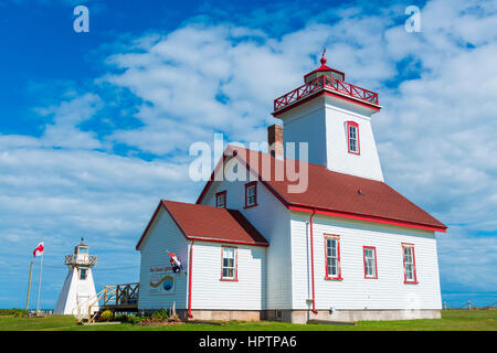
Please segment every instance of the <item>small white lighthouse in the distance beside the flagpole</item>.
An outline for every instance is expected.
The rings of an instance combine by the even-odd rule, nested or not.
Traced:
[[[89,247],[81,244],[74,248],[74,254],[65,256],[64,264],[68,267],[64,287],[62,287],[55,304],[55,314],[77,314],[78,306],[82,312],[88,311],[91,298],[96,297],[92,268],[96,265],[96,256],[89,256]],[[92,306],[92,311],[98,311],[98,304]]]

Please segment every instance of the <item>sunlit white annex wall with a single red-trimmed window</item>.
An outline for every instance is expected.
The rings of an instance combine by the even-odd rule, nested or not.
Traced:
[[[237,249],[237,281],[221,280],[223,244],[194,242],[192,310],[262,310],[265,298],[265,248]]]

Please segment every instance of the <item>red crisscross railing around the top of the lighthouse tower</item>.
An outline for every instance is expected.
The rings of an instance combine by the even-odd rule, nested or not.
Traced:
[[[339,79],[335,79],[330,76],[320,76],[287,93],[286,95],[276,98],[274,100],[274,111],[282,110],[283,108],[286,108],[287,106],[321,89],[335,90],[352,98],[378,105],[378,93],[355,86],[352,84],[348,84]]]

